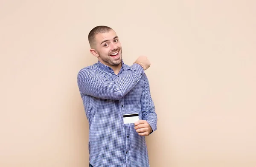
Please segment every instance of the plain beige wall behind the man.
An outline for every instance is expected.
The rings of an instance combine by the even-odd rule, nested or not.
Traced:
[[[0,167],[87,167],[77,72],[114,28],[158,114],[151,167],[256,166],[256,1],[0,0]]]

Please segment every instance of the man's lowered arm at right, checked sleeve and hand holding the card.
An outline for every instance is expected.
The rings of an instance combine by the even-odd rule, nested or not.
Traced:
[[[149,82],[144,74],[143,92],[141,96],[142,120],[134,123],[135,129],[140,136],[148,136],[157,130],[157,113],[151,97]]]

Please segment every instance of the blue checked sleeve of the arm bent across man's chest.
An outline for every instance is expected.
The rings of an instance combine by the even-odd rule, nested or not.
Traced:
[[[134,63],[124,74],[113,80],[108,80],[92,68],[84,68],[77,76],[81,93],[100,99],[118,100],[125,96],[141,79],[144,69]]]

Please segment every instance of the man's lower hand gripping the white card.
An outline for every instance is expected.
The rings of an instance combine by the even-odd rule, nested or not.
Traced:
[[[140,136],[148,136],[153,130],[151,126],[148,124],[147,121],[145,120],[138,120],[137,122],[134,123],[136,132]]]

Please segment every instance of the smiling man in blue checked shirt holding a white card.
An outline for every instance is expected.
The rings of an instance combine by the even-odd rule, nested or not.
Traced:
[[[145,136],[157,130],[144,73],[150,62],[141,56],[124,64],[119,37],[110,27],[93,28],[88,40],[98,62],[81,69],[77,82],[89,122],[89,166],[149,167]]]

